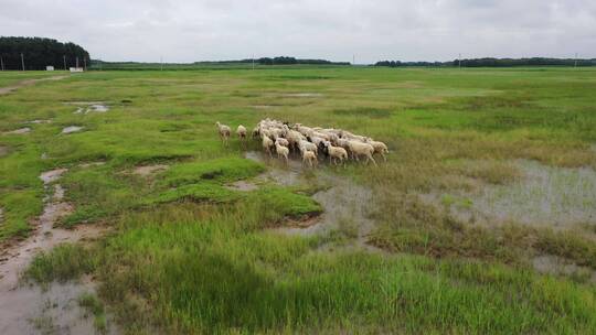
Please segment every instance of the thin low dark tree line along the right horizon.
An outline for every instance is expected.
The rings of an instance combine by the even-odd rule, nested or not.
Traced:
[[[592,60],[574,60],[574,58],[472,58],[461,60],[461,67],[511,67],[511,66],[595,66],[596,58]],[[459,60],[448,62],[400,62],[400,61],[381,61],[374,66],[459,66]]]

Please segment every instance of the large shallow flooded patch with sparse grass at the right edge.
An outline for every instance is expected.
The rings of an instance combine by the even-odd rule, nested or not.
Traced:
[[[517,161],[522,177],[507,185],[485,185],[469,193],[430,193],[421,198],[447,206],[462,221],[520,223],[553,227],[596,225],[596,172],[589,168],[546,166]]]

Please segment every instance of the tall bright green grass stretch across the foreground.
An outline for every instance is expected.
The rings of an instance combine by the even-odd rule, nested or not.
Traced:
[[[150,322],[180,334],[595,326],[594,288],[493,263],[312,252],[317,238],[260,233],[276,215],[265,212],[185,204],[123,217],[121,230],[97,247],[102,296],[130,329]]]

